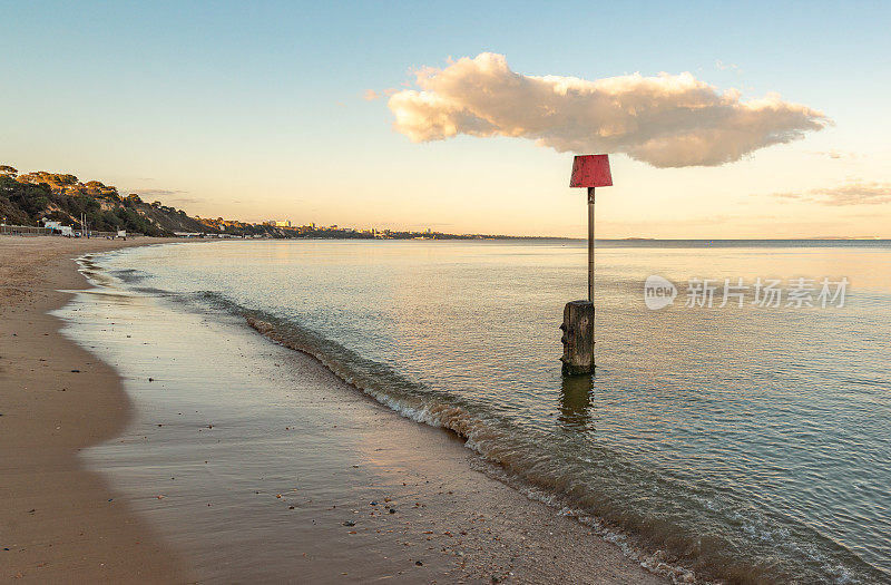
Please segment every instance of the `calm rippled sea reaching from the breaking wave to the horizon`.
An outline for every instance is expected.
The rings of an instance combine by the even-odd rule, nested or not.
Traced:
[[[598,242],[597,371],[564,378],[585,260],[582,242],[283,241],[99,264],[244,315],[631,554],[740,582],[891,582],[891,243]],[[673,304],[647,308],[650,275]],[[725,279],[750,286],[743,306],[721,306]],[[758,279],[780,306],[753,302]]]

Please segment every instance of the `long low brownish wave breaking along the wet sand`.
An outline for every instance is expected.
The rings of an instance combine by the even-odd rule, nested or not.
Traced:
[[[656,470],[639,468],[609,451],[598,451],[595,459],[589,458],[588,469],[564,467],[566,461],[555,464],[549,451],[517,433],[509,419],[502,420],[492,412],[479,413],[479,408],[460,397],[408,380],[392,368],[368,360],[293,321],[234,304],[229,309],[235,309],[249,326],[267,339],[314,357],[335,376],[403,417],[454,432],[481,457],[487,475],[588,526],[654,574],[674,583],[807,583],[816,578],[813,567],[797,562],[777,564],[776,557],[756,558],[741,549],[738,540],[731,543],[719,534],[697,532],[674,521],[672,514],[696,509],[714,514],[703,519],[698,524],[701,527],[708,521],[723,520],[722,505],[714,496],[698,494],[692,486],[675,485],[676,480]],[[590,477],[591,469],[611,478],[615,485],[607,481],[600,489],[591,487],[584,479]],[[674,509],[663,515],[647,506],[629,508],[624,500],[616,499],[620,477],[628,475],[636,478],[635,488],[640,497],[665,497],[666,501],[673,501]],[[777,529],[760,515],[737,514],[737,518],[741,530],[757,532],[765,543],[773,543],[771,547],[790,543],[787,529]],[[796,533],[792,542],[801,545],[820,539],[806,526],[797,527]],[[852,577],[849,569],[830,562],[815,547],[810,553],[802,552],[806,553],[809,563],[821,565],[823,576],[832,575],[829,579],[832,583],[872,582]],[[844,556],[848,552],[838,553]],[[860,573],[864,574],[880,576],[872,567]]]

